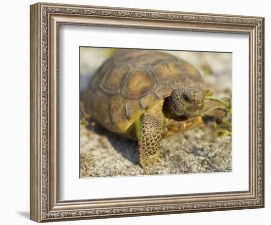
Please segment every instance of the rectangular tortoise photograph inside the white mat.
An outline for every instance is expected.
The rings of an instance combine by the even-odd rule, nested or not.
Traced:
[[[79,52],[80,178],[232,171],[232,53]]]

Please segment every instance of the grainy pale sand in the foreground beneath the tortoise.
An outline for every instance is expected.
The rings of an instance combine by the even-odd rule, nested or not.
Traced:
[[[231,137],[216,138],[210,121],[193,130],[163,139],[165,160],[147,174],[230,172]],[[101,127],[81,129],[80,177],[142,175],[136,141]]]

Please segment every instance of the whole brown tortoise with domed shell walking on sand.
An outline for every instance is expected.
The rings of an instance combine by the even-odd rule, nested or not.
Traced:
[[[107,130],[138,141],[143,169],[164,162],[160,141],[202,124],[199,71],[154,50],[122,50],[109,57],[82,94],[84,110]]]

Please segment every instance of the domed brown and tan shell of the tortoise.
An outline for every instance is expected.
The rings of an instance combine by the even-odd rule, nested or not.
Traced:
[[[86,112],[100,125],[125,134],[173,89],[190,84],[201,86],[202,78],[188,62],[153,50],[123,50],[97,70],[82,100]]]

